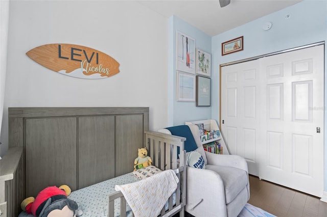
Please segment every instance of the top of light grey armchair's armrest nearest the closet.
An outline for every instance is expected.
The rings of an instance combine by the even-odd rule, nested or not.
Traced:
[[[214,154],[206,151],[205,156],[209,165],[235,167],[248,172],[246,160],[239,155]]]

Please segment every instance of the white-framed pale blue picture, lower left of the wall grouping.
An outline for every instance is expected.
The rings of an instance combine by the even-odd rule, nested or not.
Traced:
[[[195,101],[195,75],[177,71],[177,101]]]

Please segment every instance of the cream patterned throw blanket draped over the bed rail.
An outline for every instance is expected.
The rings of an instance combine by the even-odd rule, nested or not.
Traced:
[[[141,181],[115,185],[131,207],[135,217],[157,216],[177,188],[178,178],[173,170],[165,170]]]

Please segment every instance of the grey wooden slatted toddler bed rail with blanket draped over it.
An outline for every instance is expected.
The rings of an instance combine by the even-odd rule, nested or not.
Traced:
[[[160,170],[174,170],[179,179],[176,189],[176,202],[173,203],[173,195],[170,196],[168,209],[164,206],[159,216],[172,216],[177,212],[179,212],[179,216],[184,216],[184,206],[186,204],[184,141],[186,139],[153,131],[146,131],[145,137],[146,147],[149,150],[149,156],[152,158],[152,165]],[[126,216],[126,199],[120,191],[109,195],[109,216],[114,216],[114,200],[118,198],[120,198],[121,203],[120,216]]]

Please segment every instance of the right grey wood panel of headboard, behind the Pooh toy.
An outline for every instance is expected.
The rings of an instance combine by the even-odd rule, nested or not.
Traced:
[[[120,176],[134,170],[138,148],[143,143],[143,115],[116,116],[116,174]]]

